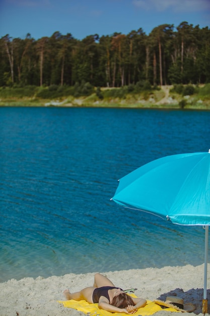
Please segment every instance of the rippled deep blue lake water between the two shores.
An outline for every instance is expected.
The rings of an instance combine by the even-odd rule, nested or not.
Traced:
[[[208,151],[210,112],[0,108],[0,281],[200,265],[204,230],[110,201],[162,156]]]

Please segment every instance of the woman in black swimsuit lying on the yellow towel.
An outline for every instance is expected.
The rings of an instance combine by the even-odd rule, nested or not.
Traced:
[[[136,312],[138,308],[144,307],[147,303],[143,298],[134,298],[127,295],[100,273],[95,275],[93,286],[86,287],[76,293],[65,290],[63,294],[67,300],[80,301],[84,299],[90,304],[98,303],[100,309],[111,312],[125,312],[126,314]]]

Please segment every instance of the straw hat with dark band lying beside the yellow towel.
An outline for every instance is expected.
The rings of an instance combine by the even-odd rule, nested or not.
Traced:
[[[193,305],[192,303],[184,304],[184,300],[178,296],[167,296],[165,302],[159,299],[154,300],[154,302],[163,308],[172,307],[176,310],[187,312],[195,310],[195,305]]]

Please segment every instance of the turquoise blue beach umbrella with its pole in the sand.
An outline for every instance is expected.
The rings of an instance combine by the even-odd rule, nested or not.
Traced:
[[[116,203],[142,210],[173,224],[204,226],[202,311],[207,312],[207,250],[210,225],[210,149],[152,161],[119,180]]]

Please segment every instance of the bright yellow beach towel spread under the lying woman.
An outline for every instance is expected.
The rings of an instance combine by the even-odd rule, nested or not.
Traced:
[[[132,297],[136,297],[135,295],[132,295]],[[59,303],[62,303],[64,307],[71,307],[80,311],[83,311],[85,314],[89,314],[90,316],[127,316],[126,313],[113,313],[109,312],[107,310],[99,309],[98,303],[95,304],[89,304],[85,300],[81,301],[75,301],[74,299],[68,300],[68,301],[58,301]],[[147,315],[153,315],[157,311],[162,310],[161,306],[152,302],[147,301],[147,305],[145,307],[139,308],[135,313],[131,314],[134,316],[141,315],[141,316],[147,316]],[[174,308],[167,308],[167,311],[177,311]]]

